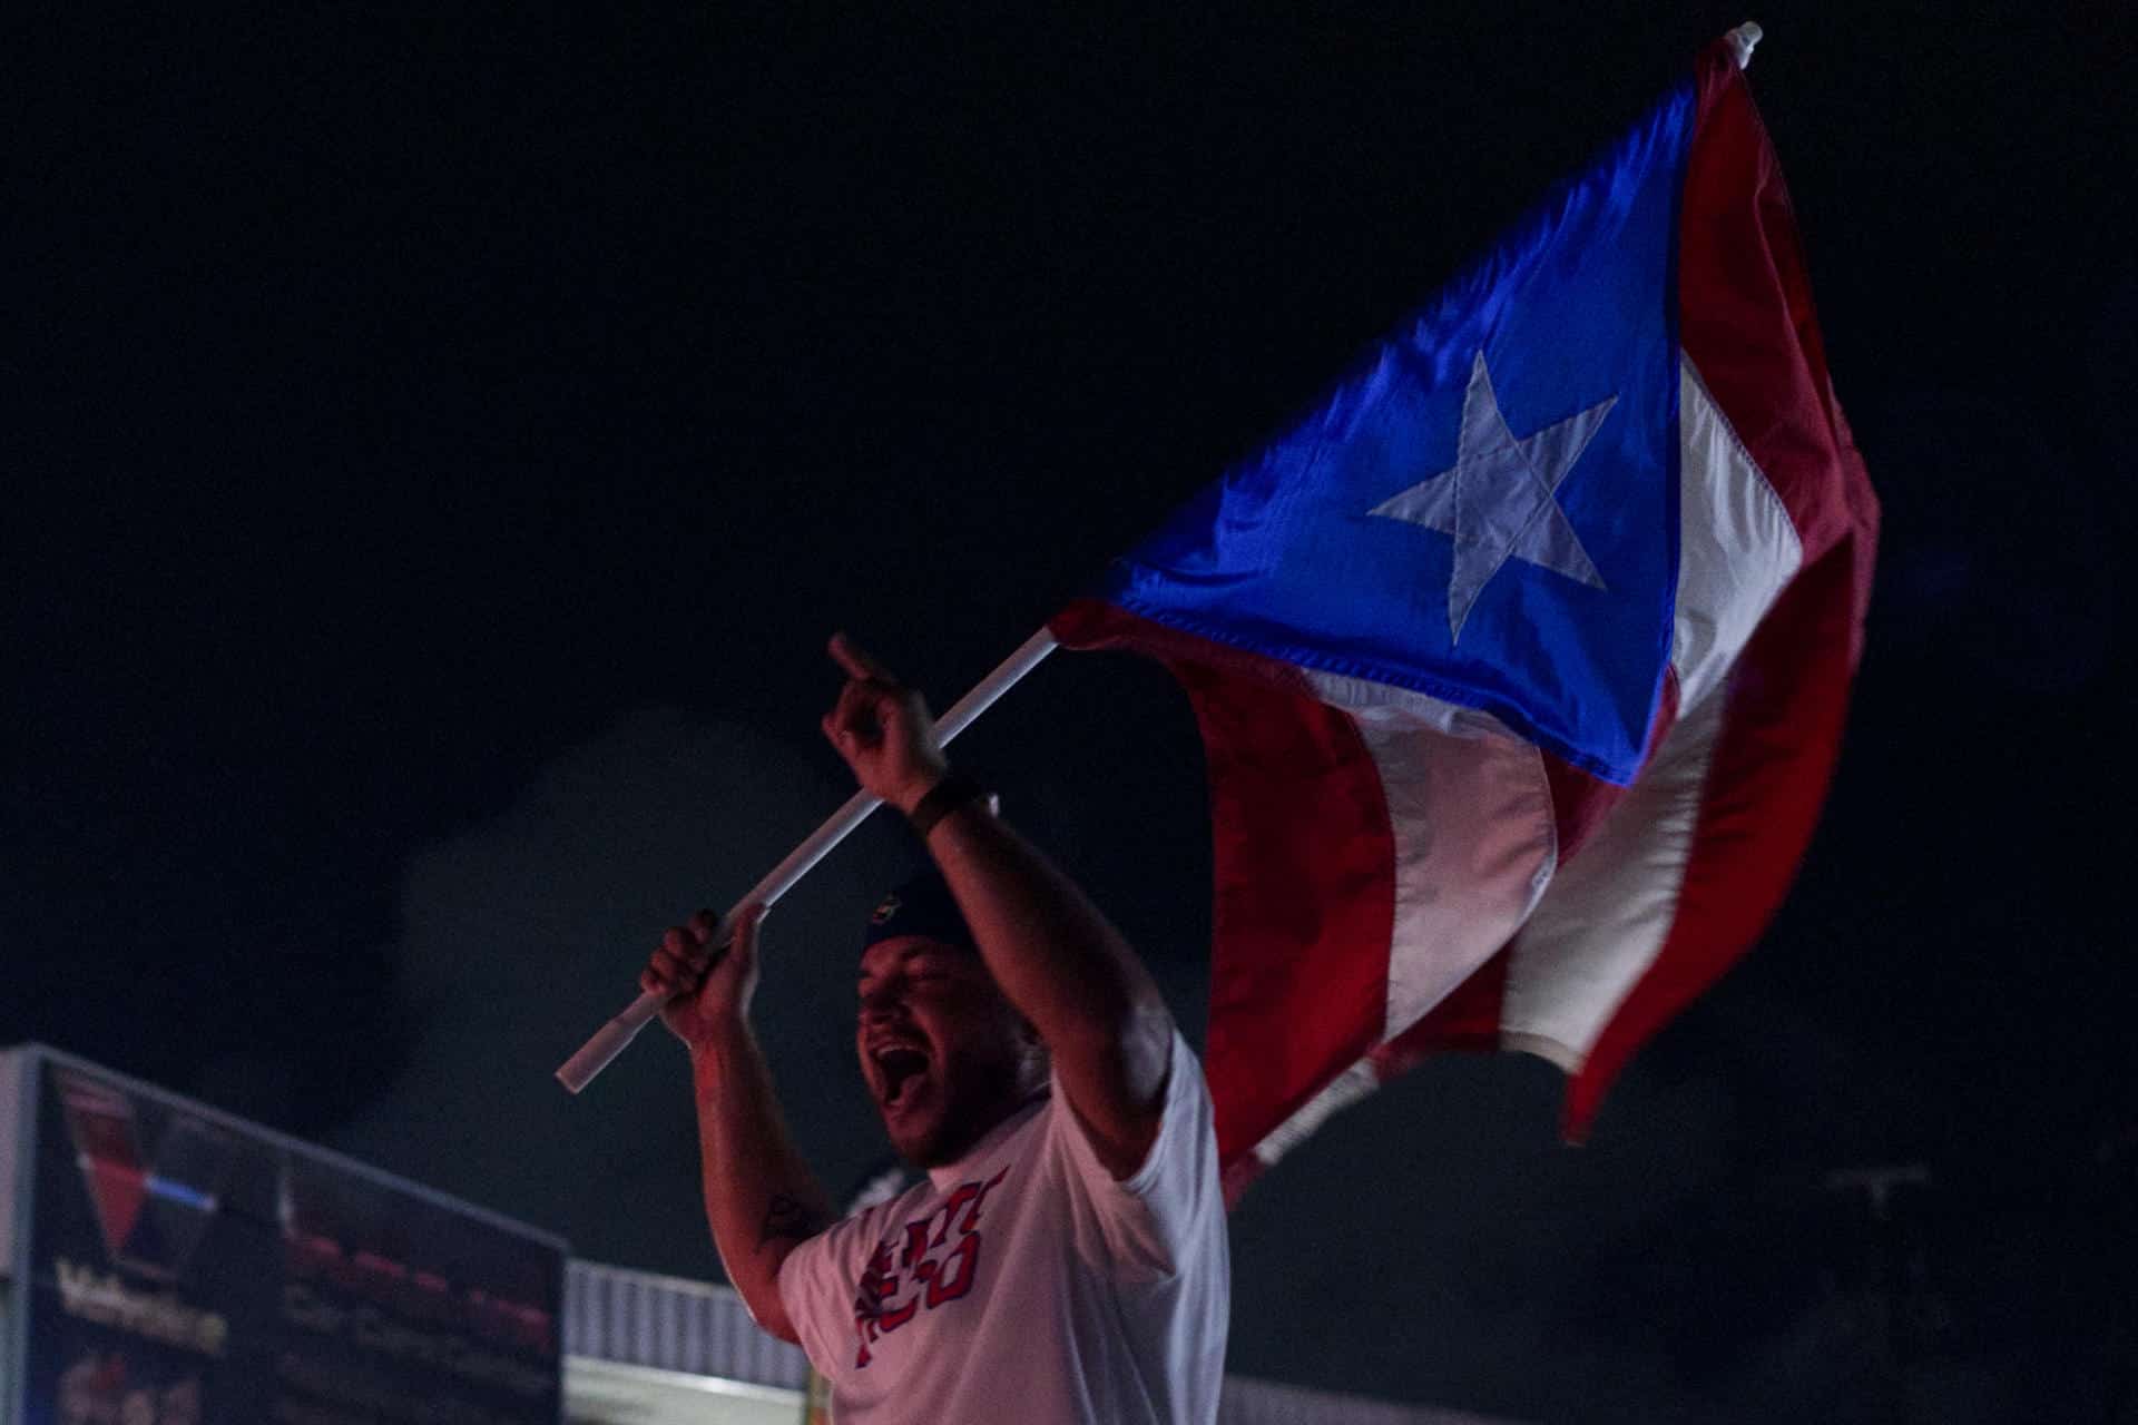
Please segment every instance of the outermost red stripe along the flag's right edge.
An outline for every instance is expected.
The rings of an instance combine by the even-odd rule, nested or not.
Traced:
[[[1631,1053],[1713,985],[1781,904],[1817,823],[1862,647],[1877,502],[1826,370],[1781,165],[1721,47],[1700,64],[1678,340],[1796,526],[1804,564],[1732,671],[1678,914],[1567,1087],[1580,1139]]]

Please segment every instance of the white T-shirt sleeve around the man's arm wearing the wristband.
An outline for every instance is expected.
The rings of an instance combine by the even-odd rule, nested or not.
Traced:
[[[1172,1278],[1208,1233],[1210,1218],[1225,1213],[1210,1087],[1178,1028],[1165,1060],[1159,1137],[1135,1173],[1116,1179],[1107,1171],[1090,1130],[1058,1094],[1050,1132],[1122,1280]]]

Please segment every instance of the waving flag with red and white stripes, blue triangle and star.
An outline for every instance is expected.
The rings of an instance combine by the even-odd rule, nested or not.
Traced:
[[[1875,538],[1725,41],[1052,622],[1202,726],[1234,1192],[1445,1047],[1586,1130],[1796,872]]]

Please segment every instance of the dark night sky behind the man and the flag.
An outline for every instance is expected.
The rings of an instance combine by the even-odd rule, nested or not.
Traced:
[[[547,1075],[842,799],[823,637],[947,703],[1745,17],[152,9],[0,19],[0,1043],[684,1275],[680,1053]],[[1826,823],[1591,1147],[1552,1070],[1456,1058],[1266,1179],[1238,1372],[2027,1421],[2138,1350],[2138,13],[1755,15],[1886,502]],[[1169,684],[1056,658],[966,756],[1199,1032]],[[765,931],[840,1190],[855,927],[911,855],[864,833]],[[1892,1226],[1819,1188],[1888,1162],[1935,1179]]]

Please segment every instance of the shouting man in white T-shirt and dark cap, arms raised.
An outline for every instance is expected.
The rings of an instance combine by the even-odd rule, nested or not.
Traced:
[[[1202,1066],[1097,906],[954,771],[845,637],[823,733],[939,874],[866,931],[855,1051],[926,1181],[834,1222],[748,1023],[757,921],[669,929],[639,985],[691,1049],[706,1216],[840,1425],[1217,1419],[1231,1269]]]

